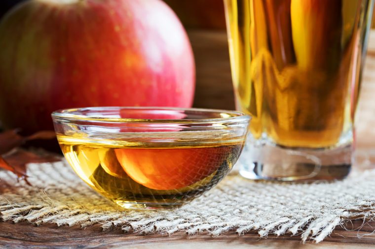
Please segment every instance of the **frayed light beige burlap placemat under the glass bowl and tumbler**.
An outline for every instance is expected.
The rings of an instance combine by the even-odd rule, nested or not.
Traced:
[[[375,170],[344,181],[315,184],[252,182],[237,175],[176,210],[124,211],[86,186],[65,161],[30,164],[32,184],[17,183],[0,171],[0,218],[32,224],[56,223],[124,232],[188,235],[229,230],[239,235],[300,234],[302,241],[322,241],[345,220],[375,216]]]

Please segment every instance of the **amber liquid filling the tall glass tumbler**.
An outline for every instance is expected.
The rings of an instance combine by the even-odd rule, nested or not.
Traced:
[[[328,147],[351,129],[372,0],[225,0],[237,109],[255,138]]]

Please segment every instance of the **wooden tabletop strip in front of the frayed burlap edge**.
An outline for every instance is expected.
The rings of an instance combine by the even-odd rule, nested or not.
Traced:
[[[338,227],[335,232],[319,244],[324,248],[345,248],[356,244],[363,248],[372,246],[375,243],[375,235],[371,235],[374,230],[370,223],[363,224],[362,221],[354,221],[347,224],[346,231]],[[361,227],[361,232],[358,229]],[[191,248],[191,246],[203,246],[204,248],[226,248],[229,245],[234,248],[245,248],[253,246],[256,248],[305,248],[300,243],[299,236],[269,236],[267,239],[260,239],[256,232],[245,236],[238,236],[234,232],[227,233],[225,236],[212,238],[209,235],[197,235],[188,237],[185,233],[177,233],[173,236],[167,235],[142,235],[142,234],[124,234],[119,230],[102,231],[99,226],[87,229],[80,227],[57,227],[47,224],[40,227],[34,227],[27,223],[12,224],[0,223],[0,247],[12,248],[112,248],[137,246],[137,248],[153,248],[162,245],[163,248],[181,249],[181,246]],[[313,243],[307,243],[307,246],[314,246]],[[372,246],[373,247],[373,246]]]

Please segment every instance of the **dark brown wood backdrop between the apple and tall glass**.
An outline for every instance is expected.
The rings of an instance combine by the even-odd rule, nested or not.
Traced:
[[[234,110],[225,31],[188,32],[196,63],[194,107]]]

